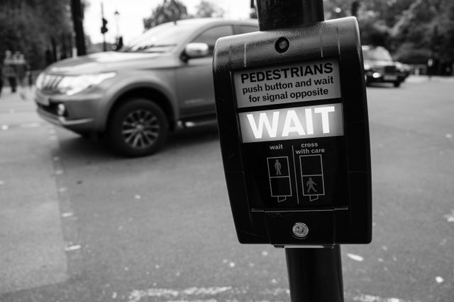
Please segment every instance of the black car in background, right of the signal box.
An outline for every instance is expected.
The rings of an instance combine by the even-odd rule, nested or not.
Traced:
[[[381,46],[362,46],[366,85],[370,83],[392,83],[399,87],[404,81],[402,74],[392,61],[391,54]]]

